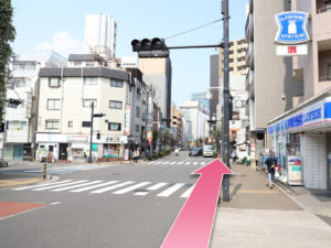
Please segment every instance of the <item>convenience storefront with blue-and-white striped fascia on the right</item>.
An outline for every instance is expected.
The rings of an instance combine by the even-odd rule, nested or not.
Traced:
[[[330,95],[322,93],[269,122],[269,147],[284,182],[331,190]]]

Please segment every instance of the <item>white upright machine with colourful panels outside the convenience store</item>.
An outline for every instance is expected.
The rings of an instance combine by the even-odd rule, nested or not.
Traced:
[[[289,185],[303,185],[301,158],[288,157],[287,165],[287,183]]]

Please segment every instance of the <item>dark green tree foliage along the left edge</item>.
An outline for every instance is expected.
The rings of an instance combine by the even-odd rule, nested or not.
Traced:
[[[15,29],[12,25],[11,0],[0,0],[0,121],[6,106],[7,64],[11,56],[10,42],[14,41]]]

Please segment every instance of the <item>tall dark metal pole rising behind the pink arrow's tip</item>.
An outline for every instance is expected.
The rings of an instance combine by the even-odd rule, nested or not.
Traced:
[[[229,137],[228,137],[228,119],[229,119],[229,75],[228,75],[228,0],[222,1],[223,14],[223,43],[224,43],[224,85],[223,85],[223,162],[229,168]],[[229,176],[223,177],[223,201],[229,202]]]

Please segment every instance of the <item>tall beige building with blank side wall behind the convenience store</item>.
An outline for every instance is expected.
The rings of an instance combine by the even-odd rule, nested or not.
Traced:
[[[302,2],[302,1],[301,1]],[[275,14],[289,11],[290,1],[249,0],[246,19],[246,89],[249,95],[247,137],[252,162],[267,147],[266,130],[270,119],[293,107],[293,98],[303,93],[302,82],[292,77],[290,57],[276,56]]]

